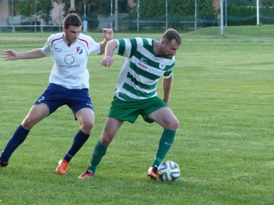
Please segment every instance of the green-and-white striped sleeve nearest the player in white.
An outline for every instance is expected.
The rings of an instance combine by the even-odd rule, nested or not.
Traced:
[[[117,39],[116,53],[124,57],[132,57],[137,50],[136,38],[131,39]]]

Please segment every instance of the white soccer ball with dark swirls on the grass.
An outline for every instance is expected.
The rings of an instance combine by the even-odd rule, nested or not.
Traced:
[[[174,161],[164,161],[157,170],[161,181],[175,181],[180,176],[180,168]]]

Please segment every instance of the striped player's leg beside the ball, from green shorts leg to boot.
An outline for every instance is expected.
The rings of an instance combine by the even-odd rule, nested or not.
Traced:
[[[148,175],[151,178],[156,179],[157,168],[166,157],[173,144],[176,130],[179,127],[179,121],[160,98],[154,97],[153,99],[149,99],[148,105],[149,106],[144,109],[141,115],[144,117],[145,121],[156,121],[164,129],[160,137],[155,160],[148,172]]]

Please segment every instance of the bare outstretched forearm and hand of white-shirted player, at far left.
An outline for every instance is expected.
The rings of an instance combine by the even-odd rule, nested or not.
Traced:
[[[36,59],[42,57],[46,57],[46,55],[41,52],[41,49],[34,49],[32,51],[22,53],[17,53],[14,50],[2,51],[2,58],[5,60]]]

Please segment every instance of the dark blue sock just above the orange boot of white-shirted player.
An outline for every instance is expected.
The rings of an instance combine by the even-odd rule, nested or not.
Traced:
[[[90,134],[85,134],[81,130],[75,135],[74,141],[72,142],[71,147],[67,151],[64,159],[69,162],[71,158],[76,155],[76,153],[81,149],[81,147],[85,144]]]

